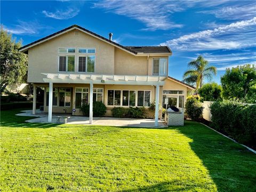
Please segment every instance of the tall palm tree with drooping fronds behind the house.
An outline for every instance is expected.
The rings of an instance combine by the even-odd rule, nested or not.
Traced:
[[[213,74],[217,74],[217,68],[209,66],[209,62],[199,55],[196,60],[188,63],[188,69],[183,75],[183,82],[196,85],[196,90],[202,87],[205,78],[212,79]]]

